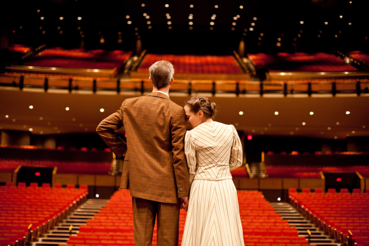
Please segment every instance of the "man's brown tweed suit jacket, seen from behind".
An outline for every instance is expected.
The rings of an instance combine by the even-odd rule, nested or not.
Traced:
[[[125,127],[127,143],[114,130]],[[184,152],[185,110],[160,92],[126,99],[100,122],[97,133],[118,156],[125,155],[120,189],[131,196],[177,203],[189,196]]]

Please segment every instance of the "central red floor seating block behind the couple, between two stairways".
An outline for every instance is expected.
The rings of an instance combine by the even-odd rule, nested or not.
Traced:
[[[308,245],[304,237],[298,237],[296,228],[290,227],[286,220],[282,220],[261,192],[238,191],[237,195],[246,245]],[[186,215],[186,211],[180,210],[179,245]],[[155,224],[152,245],[157,245],[156,236]],[[134,245],[132,198],[129,191],[115,192],[106,206],[93,219],[88,220],[86,227],[80,227],[77,236],[70,237],[67,245]]]

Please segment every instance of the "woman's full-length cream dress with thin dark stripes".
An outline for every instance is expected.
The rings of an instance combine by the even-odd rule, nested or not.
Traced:
[[[204,122],[186,133],[190,203],[182,246],[244,245],[236,188],[230,171],[242,165],[232,125]]]

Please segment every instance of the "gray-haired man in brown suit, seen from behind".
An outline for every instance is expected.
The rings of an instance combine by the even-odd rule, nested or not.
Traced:
[[[166,60],[150,69],[153,92],[126,99],[96,131],[117,157],[125,155],[120,189],[132,196],[135,245],[178,245],[179,209],[187,210],[189,176],[183,138],[185,110],[169,98],[174,68]],[[125,127],[127,143],[114,130]],[[127,151],[127,153],[126,153]]]

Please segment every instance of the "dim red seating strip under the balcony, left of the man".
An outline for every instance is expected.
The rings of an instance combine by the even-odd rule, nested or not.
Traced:
[[[58,173],[108,174],[110,162],[53,161],[53,160],[11,160],[0,159],[0,172],[13,172],[19,165],[23,167],[53,168]]]

